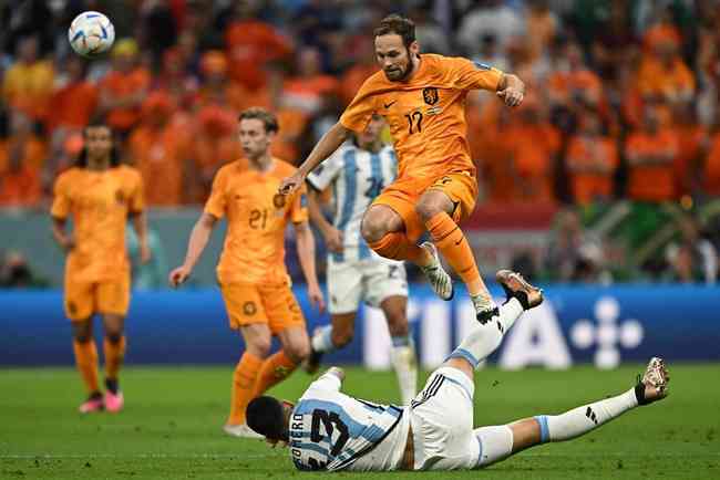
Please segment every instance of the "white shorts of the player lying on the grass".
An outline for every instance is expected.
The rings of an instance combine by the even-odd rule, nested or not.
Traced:
[[[438,368],[412,400],[414,470],[480,468],[511,455],[507,426],[473,429],[475,386],[457,368]]]

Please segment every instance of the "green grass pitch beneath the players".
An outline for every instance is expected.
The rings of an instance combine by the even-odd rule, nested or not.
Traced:
[[[670,396],[589,435],[552,444],[480,471],[337,473],[353,479],[717,479],[720,478],[720,365],[670,365]],[[81,417],[83,392],[72,369],[0,371],[0,479],[327,478],[294,469],[288,452],[220,430],[233,366],[128,367],[125,411]],[[640,365],[611,372],[480,371],[475,425],[555,414],[620,393]],[[423,379],[426,374],[423,375]],[[272,392],[295,398],[298,372]],[[393,401],[392,372],[348,369],[346,392]]]

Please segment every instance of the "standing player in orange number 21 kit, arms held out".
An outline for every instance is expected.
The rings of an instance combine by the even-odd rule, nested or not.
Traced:
[[[295,167],[270,155],[277,133],[277,118],[266,109],[254,107],[240,114],[239,139],[246,159],[224,166],[215,176],[185,262],[169,274],[172,286],[187,280],[217,220],[227,216],[217,278],[230,327],[240,331],[246,346],[235,368],[230,416],[224,427],[237,437],[258,437],[245,425],[247,404],[286,378],[310,353],[305,319],[285,267],[288,221],[295,226],[310,301],[320,311],[325,309],[306,192],[300,189],[289,197],[277,192],[280,180],[295,173]],[[272,335],[278,336],[282,349],[269,356]]]

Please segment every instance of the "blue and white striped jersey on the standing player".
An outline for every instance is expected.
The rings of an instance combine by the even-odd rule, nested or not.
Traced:
[[[383,188],[398,176],[398,157],[385,145],[373,154],[347,144],[308,175],[318,190],[332,187],[332,225],[342,232],[343,252],[331,253],[335,262],[376,255],[360,234],[362,215]]]

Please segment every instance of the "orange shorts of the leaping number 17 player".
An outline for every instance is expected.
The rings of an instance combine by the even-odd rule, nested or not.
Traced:
[[[428,190],[440,190],[455,204],[452,218],[460,223],[475,209],[477,198],[477,179],[470,171],[451,171],[435,178],[429,186],[419,180],[397,180],[385,188],[372,205],[387,205],[392,208],[405,223],[405,233],[411,242],[425,232],[425,225],[415,211],[418,200]],[[426,186],[426,187],[425,187]]]

